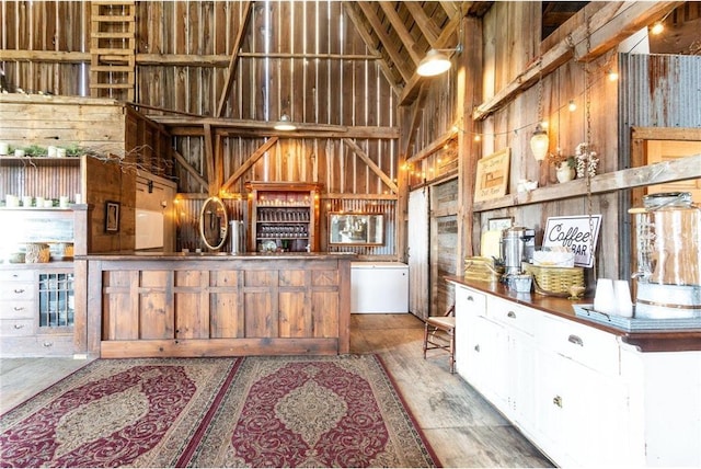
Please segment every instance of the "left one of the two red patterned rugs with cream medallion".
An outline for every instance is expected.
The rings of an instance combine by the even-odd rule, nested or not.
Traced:
[[[95,361],[0,417],[0,466],[173,467],[239,363]]]

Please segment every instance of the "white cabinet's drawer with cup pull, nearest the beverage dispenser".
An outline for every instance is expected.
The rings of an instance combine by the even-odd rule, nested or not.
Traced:
[[[549,314],[540,316],[537,323],[536,333],[541,347],[594,370],[619,374],[620,351],[616,335]]]

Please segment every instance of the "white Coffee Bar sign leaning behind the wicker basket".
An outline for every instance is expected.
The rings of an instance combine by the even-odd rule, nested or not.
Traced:
[[[565,248],[574,253],[574,265],[591,267],[600,225],[600,215],[549,217],[543,248]]]

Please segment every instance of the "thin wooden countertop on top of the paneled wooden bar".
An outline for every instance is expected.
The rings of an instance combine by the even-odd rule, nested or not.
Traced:
[[[355,253],[341,252],[245,252],[231,254],[228,252],[154,252],[154,251],[119,251],[77,255],[76,259],[91,261],[330,261],[347,259],[353,261]]]

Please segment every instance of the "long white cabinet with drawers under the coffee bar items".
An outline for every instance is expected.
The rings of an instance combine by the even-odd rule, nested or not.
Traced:
[[[456,283],[460,376],[561,467],[701,467],[701,352]]]

